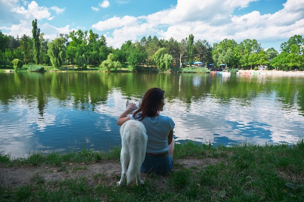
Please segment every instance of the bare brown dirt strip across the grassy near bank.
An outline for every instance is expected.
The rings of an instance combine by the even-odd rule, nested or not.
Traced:
[[[174,169],[184,168],[197,168],[202,169],[210,164],[217,163],[218,160],[214,158],[204,159],[176,159],[174,160]],[[94,175],[102,174],[117,183],[120,179],[121,167],[118,161],[106,160],[94,164],[78,164],[78,163],[66,163],[67,170],[58,171],[56,167],[40,166],[40,167],[0,167],[0,186],[24,186],[32,183],[34,177],[40,176],[45,181],[58,181],[76,179],[80,177],[86,177],[91,184],[97,184],[98,179],[94,179]],[[141,173],[143,180],[149,177],[145,173]],[[135,181],[135,180],[134,180]]]

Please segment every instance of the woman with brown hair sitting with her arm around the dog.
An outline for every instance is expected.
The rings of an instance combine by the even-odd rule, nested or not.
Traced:
[[[166,173],[173,167],[175,124],[170,117],[159,114],[165,105],[164,94],[165,91],[160,88],[149,89],[142,98],[139,109],[128,116],[130,110],[135,108],[135,104],[130,103],[117,121],[118,125],[122,125],[130,119],[135,119],[145,125],[148,143],[145,160],[141,165],[143,172]]]

